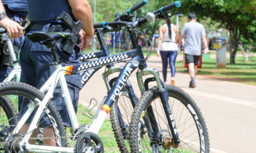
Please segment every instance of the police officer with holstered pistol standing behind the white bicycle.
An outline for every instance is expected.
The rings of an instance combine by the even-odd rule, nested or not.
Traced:
[[[92,10],[87,0],[27,0],[29,20],[28,31],[44,31],[49,32],[55,28],[64,28],[58,26],[55,21],[62,11],[67,12],[72,18],[81,20],[83,22],[83,31],[81,31],[81,43],[79,47],[84,50],[88,47],[90,40],[92,40],[94,29],[92,24]],[[59,30],[60,30],[59,29]],[[59,44],[57,44],[58,46]],[[61,51],[60,46],[56,47],[57,54],[62,61],[62,65],[76,64],[80,62],[81,49],[75,46],[71,54]],[[24,45],[20,51],[20,82],[33,85],[40,89],[45,81],[51,76],[55,70],[54,66],[50,63],[53,62],[51,50],[40,43],[32,43],[25,38]],[[79,88],[81,88],[81,78],[79,74],[66,76],[68,90],[77,111],[77,102],[79,98]],[[51,101],[54,103],[63,119],[65,126],[71,126],[70,119],[67,116],[67,110],[63,97],[61,95],[60,86],[57,85],[53,98]],[[19,104],[19,109],[22,110]],[[44,123],[43,127],[47,127]],[[20,133],[26,133],[29,122],[22,128]],[[52,128],[44,128],[44,136],[51,135]],[[44,144],[51,143],[52,140],[44,139]]]

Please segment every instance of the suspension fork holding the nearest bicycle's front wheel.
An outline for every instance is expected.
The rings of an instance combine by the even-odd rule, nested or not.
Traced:
[[[142,77],[146,75],[154,75],[154,77],[148,78],[148,80],[145,80],[145,84],[143,84]],[[138,80],[138,84],[141,92],[147,91],[149,82],[156,81],[157,91],[154,91],[154,92],[156,92],[156,94],[159,94],[161,103],[163,104],[164,113],[166,114],[166,119],[168,121],[168,126],[170,127],[171,133],[173,136],[173,147],[177,147],[180,143],[179,133],[177,132],[172,110],[170,109],[170,105],[168,103],[168,97],[169,97],[168,91],[166,90],[166,87],[164,86],[163,81],[160,80],[159,71],[157,69],[143,69],[141,71],[138,71],[137,80]],[[148,114],[150,114],[148,116],[150,123],[155,125],[155,126],[152,126],[152,133],[154,135],[157,135],[157,133],[159,133],[159,128],[157,126],[156,117],[154,116],[152,106],[148,106],[147,112]]]

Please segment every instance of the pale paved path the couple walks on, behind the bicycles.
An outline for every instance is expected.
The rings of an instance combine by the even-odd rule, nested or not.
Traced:
[[[160,60],[152,56],[147,63],[148,68],[157,68],[162,75]],[[182,56],[177,57],[177,60],[182,60]],[[102,101],[102,96],[107,93],[101,77],[103,71],[104,69],[100,69],[82,89],[80,103],[87,105],[91,98]],[[135,75],[132,74],[129,79],[135,91],[140,93]],[[196,88],[189,89],[188,74],[177,73],[175,79],[177,87],[188,92],[204,115],[211,152],[255,152],[256,86],[214,80],[198,75]],[[170,71],[168,71],[167,82],[170,82]]]

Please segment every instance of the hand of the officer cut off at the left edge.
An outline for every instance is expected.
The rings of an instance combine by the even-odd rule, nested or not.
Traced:
[[[10,18],[3,18],[0,20],[0,25],[2,25],[10,38],[17,39],[23,33],[23,28],[17,22],[11,20]]]

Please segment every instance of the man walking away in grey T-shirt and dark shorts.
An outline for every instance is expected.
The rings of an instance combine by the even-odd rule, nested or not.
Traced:
[[[195,13],[189,13],[188,19],[189,22],[184,24],[179,36],[179,46],[182,38],[185,36],[185,62],[188,64],[189,76],[191,77],[189,87],[194,88],[196,87],[195,77],[202,50],[202,41],[204,43],[204,54],[207,54],[209,49],[204,26],[196,22]]]

